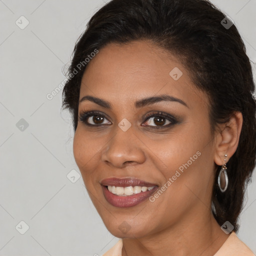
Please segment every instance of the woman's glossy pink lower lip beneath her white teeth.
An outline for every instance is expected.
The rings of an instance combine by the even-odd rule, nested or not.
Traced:
[[[145,192],[140,192],[137,194],[127,195],[127,196],[119,196],[108,191],[107,187],[102,186],[103,194],[105,199],[113,206],[116,207],[131,207],[139,204],[144,201],[151,194],[157,190],[157,186],[155,186],[151,190],[147,190]]]

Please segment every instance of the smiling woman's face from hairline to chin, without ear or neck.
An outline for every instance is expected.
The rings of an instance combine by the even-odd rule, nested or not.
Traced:
[[[108,230],[142,237],[208,216],[214,137],[188,71],[145,41],[108,44],[87,65],[73,152]]]

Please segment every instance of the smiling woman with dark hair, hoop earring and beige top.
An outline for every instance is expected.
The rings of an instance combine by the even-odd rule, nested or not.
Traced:
[[[112,0],[77,41],[63,107],[104,255],[253,255],[237,218],[255,166],[254,83],[206,0]]]

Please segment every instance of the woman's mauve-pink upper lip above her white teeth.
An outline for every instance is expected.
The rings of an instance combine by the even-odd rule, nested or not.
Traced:
[[[126,186],[157,186],[157,184],[153,184],[138,178],[116,178],[116,177],[111,177],[111,178],[105,178],[101,180],[101,185],[103,186],[121,186],[121,187],[126,187]]]

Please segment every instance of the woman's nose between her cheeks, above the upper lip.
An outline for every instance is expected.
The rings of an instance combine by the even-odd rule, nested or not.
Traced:
[[[116,168],[143,163],[144,147],[143,142],[133,133],[132,126],[126,131],[116,126],[111,139],[102,149],[101,160]]]

